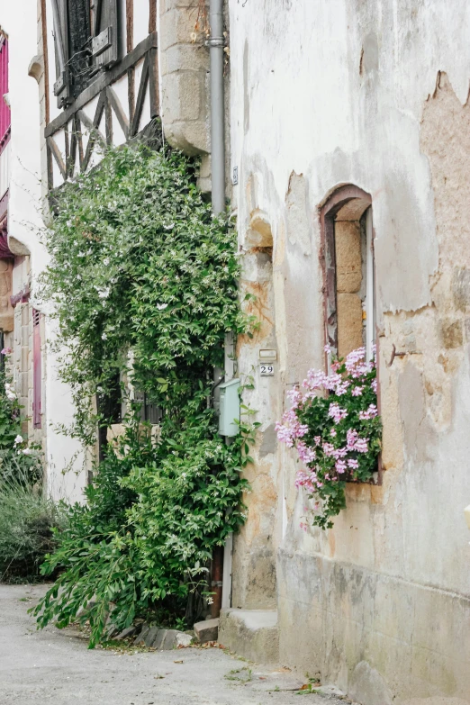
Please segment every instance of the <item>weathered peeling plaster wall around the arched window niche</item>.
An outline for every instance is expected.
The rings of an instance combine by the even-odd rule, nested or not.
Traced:
[[[247,394],[259,447],[285,391],[323,364],[318,207],[342,184],[372,194],[384,484],[350,486],[335,528],[304,532],[294,454],[256,456],[276,496],[253,485],[234,558],[236,573],[271,547],[281,661],[364,705],[470,702],[470,7],[411,5],[230,3],[240,247],[258,213],[273,236],[276,375]],[[259,347],[241,344],[241,373]],[[233,606],[270,606],[251,577],[235,575]]]

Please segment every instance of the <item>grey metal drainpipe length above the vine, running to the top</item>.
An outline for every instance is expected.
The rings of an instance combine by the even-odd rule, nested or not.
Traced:
[[[212,211],[225,211],[225,135],[223,101],[223,0],[210,0],[211,36],[207,41],[211,59],[211,171]]]

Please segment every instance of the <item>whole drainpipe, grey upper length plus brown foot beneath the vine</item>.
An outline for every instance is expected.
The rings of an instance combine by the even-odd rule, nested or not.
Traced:
[[[211,57],[211,172],[212,211],[225,211],[225,135],[223,101],[223,0],[211,0],[209,23],[211,36],[207,41]],[[223,547],[212,553],[212,618],[221,613]]]

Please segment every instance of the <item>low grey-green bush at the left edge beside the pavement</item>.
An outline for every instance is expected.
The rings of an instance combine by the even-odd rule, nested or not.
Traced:
[[[0,482],[0,582],[40,575],[59,522],[57,505],[33,489],[27,475],[19,472]]]

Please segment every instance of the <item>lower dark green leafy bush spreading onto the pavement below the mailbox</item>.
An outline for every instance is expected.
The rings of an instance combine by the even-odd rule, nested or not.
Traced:
[[[199,421],[157,448],[145,430],[128,427],[87,489],[87,505],[71,507],[56,532],[42,573],[63,572],[35,610],[40,626],[67,626],[93,598],[82,620],[95,646],[108,613],[120,629],[162,607],[181,613],[188,593],[206,582],[212,548],[244,521],[238,504],[247,483],[240,447],[207,438],[211,410]]]

